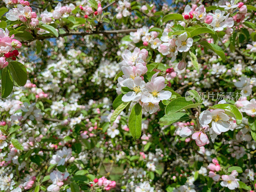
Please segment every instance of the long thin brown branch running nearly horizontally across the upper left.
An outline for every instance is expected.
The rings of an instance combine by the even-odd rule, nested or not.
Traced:
[[[92,32],[70,31],[64,34],[59,34],[59,37],[70,36],[70,35],[86,36],[86,35],[95,35],[95,34],[102,34],[102,35],[119,34],[119,33],[127,34],[134,31],[137,31],[137,29],[104,30],[104,31],[92,31]],[[56,37],[55,36],[37,36],[28,41],[21,41],[21,43],[28,43],[35,40],[43,40],[43,39],[49,39],[49,38],[56,38]]]

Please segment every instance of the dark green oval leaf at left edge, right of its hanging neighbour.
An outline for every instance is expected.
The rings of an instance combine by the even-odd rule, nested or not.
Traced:
[[[24,86],[27,83],[28,75],[25,66],[18,62],[10,62],[10,70],[13,77],[13,80],[19,85]]]

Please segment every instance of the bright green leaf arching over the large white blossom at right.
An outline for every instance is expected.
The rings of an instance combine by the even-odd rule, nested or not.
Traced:
[[[209,108],[218,108],[218,109],[224,109],[225,113],[229,116],[232,116],[236,119],[236,124],[240,124],[242,123],[242,114],[240,113],[240,111],[231,104],[217,104],[217,105],[213,105],[212,107]]]

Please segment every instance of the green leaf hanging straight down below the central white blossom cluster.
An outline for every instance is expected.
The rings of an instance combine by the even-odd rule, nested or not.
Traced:
[[[141,118],[142,118],[142,108],[139,103],[136,103],[131,110],[129,116],[128,125],[132,137],[134,139],[139,139],[141,135]]]

